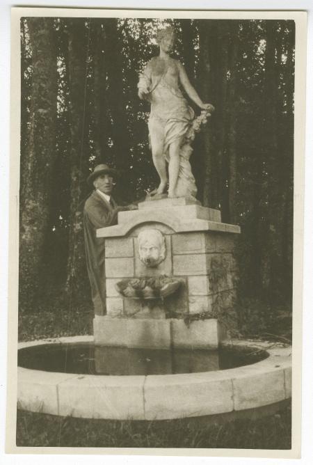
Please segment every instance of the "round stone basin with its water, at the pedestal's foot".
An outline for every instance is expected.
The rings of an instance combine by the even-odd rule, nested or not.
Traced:
[[[98,347],[93,336],[74,336],[18,348],[17,400],[29,411],[166,420],[248,411],[291,397],[291,347],[266,342],[170,352]]]

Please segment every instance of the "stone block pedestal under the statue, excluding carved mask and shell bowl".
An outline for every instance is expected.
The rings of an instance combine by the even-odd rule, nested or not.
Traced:
[[[166,256],[156,267],[141,260],[138,235],[161,232]],[[220,212],[194,198],[164,198],[120,212],[118,224],[97,230],[105,237],[106,315],[94,321],[96,344],[127,347],[216,347],[219,311],[230,308],[236,287],[233,249],[239,226],[221,223]],[[122,297],[124,278],[170,276],[181,282],[164,299]]]

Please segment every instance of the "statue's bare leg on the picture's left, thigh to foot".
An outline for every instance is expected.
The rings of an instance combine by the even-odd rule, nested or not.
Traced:
[[[149,121],[149,134],[152,149],[152,159],[154,166],[160,177],[160,184],[156,194],[163,194],[168,185],[168,175],[166,173],[166,159],[163,154],[164,128],[162,123],[156,118]]]

